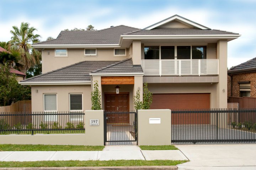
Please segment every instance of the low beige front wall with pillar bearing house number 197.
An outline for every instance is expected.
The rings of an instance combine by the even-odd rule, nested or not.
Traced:
[[[99,126],[90,126],[90,119],[99,119]],[[0,144],[103,146],[103,119],[103,111],[85,111],[84,134],[1,135]]]

